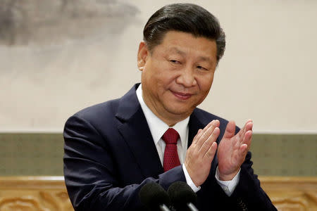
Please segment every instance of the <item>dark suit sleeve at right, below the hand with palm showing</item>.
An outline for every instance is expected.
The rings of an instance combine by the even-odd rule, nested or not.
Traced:
[[[260,186],[260,181],[251,169],[251,153],[241,166],[240,181],[231,196],[227,196],[215,178],[215,172],[211,172],[209,179],[201,185],[197,192],[199,210],[257,210],[277,211]]]

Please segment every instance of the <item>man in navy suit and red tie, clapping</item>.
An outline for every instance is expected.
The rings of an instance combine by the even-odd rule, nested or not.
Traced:
[[[144,184],[175,181],[197,193],[199,210],[275,210],[251,169],[252,121],[238,129],[196,108],[224,49],[218,20],[200,6],[171,4],[149,18],[137,53],[141,84],[66,122],[75,210],[143,210]]]

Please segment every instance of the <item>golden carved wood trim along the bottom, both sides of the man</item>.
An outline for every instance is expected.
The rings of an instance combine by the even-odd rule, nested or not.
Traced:
[[[317,210],[317,177],[259,177],[281,211]],[[0,177],[0,211],[73,211],[63,177]]]

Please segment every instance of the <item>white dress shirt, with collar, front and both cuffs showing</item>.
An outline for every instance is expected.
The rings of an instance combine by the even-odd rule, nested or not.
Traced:
[[[141,108],[143,110],[144,116],[147,119],[147,124],[149,124],[149,129],[151,132],[151,135],[153,137],[156,150],[159,153],[159,158],[161,160],[161,164],[163,165],[163,156],[165,151],[166,143],[163,141],[162,136],[166,132],[166,130],[169,128],[168,124],[163,122],[159,117],[156,117],[154,113],[147,107],[147,105],[144,103],[143,96],[142,96],[142,84],[139,85],[137,88],[137,99],[139,100],[139,104],[141,105]],[[180,138],[178,139],[177,147],[178,147],[178,157],[180,158],[180,163],[182,164],[182,170],[185,174],[186,182],[187,184],[193,189],[194,192],[197,192],[200,190],[200,186],[195,186],[194,182],[190,178],[186,167],[184,165],[185,161],[185,155],[187,152],[187,144],[188,144],[188,133],[189,133],[189,127],[188,127],[189,117],[187,117],[185,120],[182,120],[178,123],[176,123],[173,127],[178,134],[180,134]],[[228,196],[231,196],[232,192],[235,190],[235,187],[237,186],[237,183],[240,179],[240,171],[237,173],[237,175],[230,181],[220,181],[219,175],[218,175],[218,167],[216,170],[216,180],[218,181],[218,184],[223,188],[223,191]]]

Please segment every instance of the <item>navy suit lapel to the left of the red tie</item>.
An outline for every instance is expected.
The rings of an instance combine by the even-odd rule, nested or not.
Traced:
[[[137,100],[137,87],[138,84],[120,99],[116,117],[123,123],[118,130],[130,147],[144,177],[157,177],[163,173],[163,167],[147,120]]]

